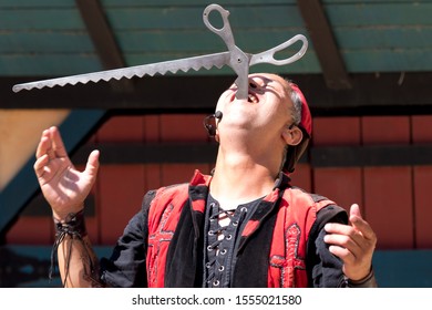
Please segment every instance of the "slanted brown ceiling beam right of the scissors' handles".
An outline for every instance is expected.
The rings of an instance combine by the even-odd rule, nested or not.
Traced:
[[[350,78],[321,1],[298,0],[297,4],[312,40],[327,86],[332,90],[351,89]]]

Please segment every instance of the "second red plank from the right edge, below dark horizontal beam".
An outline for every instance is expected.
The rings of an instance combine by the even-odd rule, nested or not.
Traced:
[[[366,167],[363,184],[363,214],[377,234],[377,248],[413,249],[411,167]]]

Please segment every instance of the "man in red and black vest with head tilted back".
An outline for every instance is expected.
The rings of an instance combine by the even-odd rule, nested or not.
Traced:
[[[110,259],[100,262],[85,232],[83,202],[99,152],[83,172],[59,131],[43,132],[34,170],[52,207],[54,249],[66,287],[376,287],[377,237],[352,205],[289,184],[311,135],[301,91],[275,74],[251,74],[247,100],[222,94],[219,143],[210,176],[150,190]]]

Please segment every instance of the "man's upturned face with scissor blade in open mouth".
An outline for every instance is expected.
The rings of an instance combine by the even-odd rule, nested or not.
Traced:
[[[223,112],[219,130],[265,130],[275,134],[275,131],[290,125],[292,103],[287,87],[288,82],[278,75],[250,74],[248,97],[237,100],[237,86],[232,85],[220,95],[216,106],[216,111]]]

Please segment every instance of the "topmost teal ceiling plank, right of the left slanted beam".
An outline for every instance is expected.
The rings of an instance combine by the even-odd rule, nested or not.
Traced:
[[[291,1],[292,2],[292,1]],[[297,6],[292,3],[269,4],[246,3],[247,6],[226,6],[230,11],[230,23],[234,32],[238,28],[266,28],[297,25],[302,28],[301,17]],[[197,28],[205,25],[199,18],[205,6],[167,6],[169,10],[161,10],[161,7],[145,6],[105,6],[110,21],[114,29],[174,29]],[[163,8],[163,4],[162,4]],[[412,25],[431,24],[430,14],[432,4],[428,2],[413,3],[409,1],[400,3],[377,3],[373,1],[358,6],[358,2],[327,3],[326,16],[330,24],[339,27],[368,27],[371,25]],[[284,18],[285,14],[285,18]],[[198,18],[197,18],[198,17]],[[251,23],[250,20],[254,20]]]

